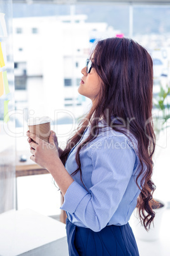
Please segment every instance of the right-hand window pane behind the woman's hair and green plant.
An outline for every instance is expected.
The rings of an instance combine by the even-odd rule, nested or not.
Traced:
[[[153,180],[155,197],[170,201],[169,150],[170,150],[170,6],[134,6],[133,38],[145,46],[154,64],[153,117],[157,134]],[[167,129],[166,129],[167,127]],[[166,177],[166,180],[164,179]],[[168,189],[167,189],[168,188]]]

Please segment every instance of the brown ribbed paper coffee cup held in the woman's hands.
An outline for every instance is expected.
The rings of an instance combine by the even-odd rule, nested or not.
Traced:
[[[40,139],[49,142],[50,136],[50,118],[49,117],[31,117],[28,120],[30,133],[35,134]]]

